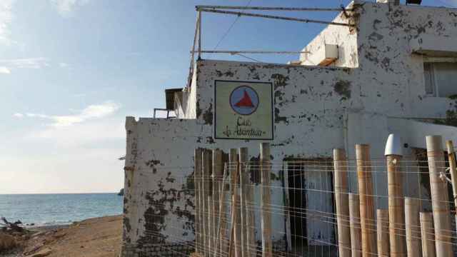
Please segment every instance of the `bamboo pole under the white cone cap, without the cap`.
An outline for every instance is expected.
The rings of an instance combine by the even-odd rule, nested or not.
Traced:
[[[401,179],[401,159],[399,155],[388,155],[388,231],[392,257],[406,256],[405,211],[403,202],[403,186]]]

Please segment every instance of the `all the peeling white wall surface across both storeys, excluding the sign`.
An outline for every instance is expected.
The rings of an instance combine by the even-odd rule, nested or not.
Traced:
[[[356,31],[328,26],[305,48],[313,51],[323,42],[341,45],[341,59],[334,65],[355,69],[198,61],[183,101],[183,119],[127,119],[124,249],[147,248],[147,243],[162,241],[158,238],[194,239],[193,192],[188,183],[194,148],[228,152],[246,146],[249,158],[258,158],[261,141],[214,138],[214,80],[273,83],[275,138],[270,143],[275,163],[285,158],[328,158],[333,148],[342,147],[353,158],[355,143],[371,144],[371,156],[382,158],[388,133],[406,131],[392,119],[429,119],[456,111],[453,100],[426,96],[423,56],[411,50],[411,40],[422,34],[443,40],[456,36],[456,10],[364,3],[358,14]],[[340,15],[336,21],[342,19]],[[421,147],[414,145],[415,140],[405,138],[406,153]],[[281,168],[273,172],[281,177]],[[385,174],[376,176],[376,193],[386,195]],[[308,182],[313,183],[313,178]],[[351,189],[356,192],[356,187]],[[282,204],[281,193],[272,196],[273,204]],[[331,198],[309,199],[308,206],[331,211]],[[376,204],[386,206],[386,200]],[[258,213],[256,221],[259,228]],[[281,240],[284,223],[273,224],[274,239]],[[333,227],[308,221],[308,236],[312,244],[318,244],[313,240],[331,241]]]

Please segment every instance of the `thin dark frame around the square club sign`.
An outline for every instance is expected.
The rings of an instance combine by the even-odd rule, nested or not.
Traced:
[[[234,82],[234,83],[248,83],[248,84],[268,84],[270,87],[270,98],[271,98],[271,138],[227,138],[227,137],[218,137],[216,135],[217,128],[217,82]],[[229,100],[230,101],[230,100]],[[274,98],[273,98],[273,82],[271,81],[235,81],[235,80],[214,80],[214,138],[215,139],[225,139],[225,140],[255,140],[255,141],[270,141],[274,139]]]

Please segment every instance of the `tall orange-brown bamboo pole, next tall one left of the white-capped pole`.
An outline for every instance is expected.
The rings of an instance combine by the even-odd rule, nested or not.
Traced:
[[[374,224],[373,179],[370,146],[356,145],[358,194],[360,201],[362,256],[376,255],[376,226]]]

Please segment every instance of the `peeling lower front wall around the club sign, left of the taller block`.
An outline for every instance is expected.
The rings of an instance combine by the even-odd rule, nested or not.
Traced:
[[[353,94],[348,81],[350,74],[350,69],[199,61],[197,119],[127,120],[126,248],[141,248],[146,242],[159,243],[156,236],[172,242],[193,240],[193,192],[183,188],[193,173],[194,148],[217,147],[228,152],[229,148],[246,146],[250,158],[258,158],[259,141],[213,138],[215,79],[273,82],[276,137],[271,141],[271,155],[273,161],[281,165],[284,158],[331,157],[332,148],[343,146],[343,112],[351,106]],[[327,143],[318,140],[322,136],[328,137]],[[280,172],[281,168],[273,171],[278,179]],[[318,182],[314,183],[330,184],[328,178],[319,178],[316,176]],[[313,177],[310,179],[312,183]],[[280,186],[282,181],[272,183]],[[331,212],[331,195],[323,197],[311,197],[310,193],[308,203],[316,206],[316,211]],[[278,205],[283,203],[282,190],[272,193],[272,201]],[[276,231],[273,239],[277,241],[283,237],[284,223],[283,217],[274,218],[282,220],[273,223],[273,231]],[[260,227],[259,213],[256,213],[256,221]],[[320,233],[313,229],[316,226],[325,227],[310,221],[310,242],[312,238],[333,240],[331,226]],[[259,233],[257,238],[260,239]]]

